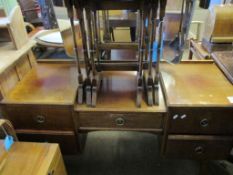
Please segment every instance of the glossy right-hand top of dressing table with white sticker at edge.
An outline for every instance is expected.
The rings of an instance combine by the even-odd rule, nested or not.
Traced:
[[[168,106],[233,107],[233,86],[214,63],[161,64]]]

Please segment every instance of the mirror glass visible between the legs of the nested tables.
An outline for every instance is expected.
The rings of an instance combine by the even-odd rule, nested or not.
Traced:
[[[64,47],[69,56],[73,56],[73,42],[71,34],[71,26],[67,15],[64,1],[53,0],[54,11],[57,17],[58,25],[61,31],[61,35],[64,41]],[[182,0],[177,0],[174,5],[173,0],[168,0],[167,12],[165,17],[165,40],[172,40],[178,33],[179,18]],[[137,39],[137,12],[127,10],[111,10],[107,12],[109,15],[109,23],[104,23],[104,12],[99,11],[97,20],[99,19],[99,31],[100,40],[111,40],[115,42],[131,42]],[[175,16],[175,17],[174,17]],[[172,21],[172,22],[171,22]],[[79,57],[82,56],[81,34],[79,31],[78,21],[76,20],[76,36],[79,48]],[[106,27],[107,25],[107,27]],[[107,30],[107,32],[105,31]],[[107,34],[107,35],[106,35]],[[111,59],[135,59],[135,51],[131,50],[112,50]],[[107,56],[108,57],[108,56]],[[104,57],[103,57],[104,58]]]

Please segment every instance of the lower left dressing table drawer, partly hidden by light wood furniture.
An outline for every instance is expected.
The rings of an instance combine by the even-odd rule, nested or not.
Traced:
[[[16,130],[19,141],[58,143],[63,154],[75,154],[78,150],[77,139],[72,131],[27,131]]]

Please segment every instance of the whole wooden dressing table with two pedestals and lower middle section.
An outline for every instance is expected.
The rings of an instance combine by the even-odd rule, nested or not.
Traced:
[[[225,159],[233,147],[233,87],[212,61],[161,64],[158,106],[135,104],[136,72],[106,71],[95,108],[75,103],[74,63],[38,63],[1,101],[20,140],[57,142],[75,153],[78,133],[159,134],[165,157]],[[163,95],[164,94],[164,95]]]

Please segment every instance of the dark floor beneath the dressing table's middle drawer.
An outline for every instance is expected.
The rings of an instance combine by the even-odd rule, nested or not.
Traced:
[[[83,152],[64,159],[69,175],[199,174],[197,161],[161,158],[158,136],[151,133],[90,132]],[[218,175],[229,175],[217,165],[212,167]],[[210,168],[208,175],[217,174]]]

